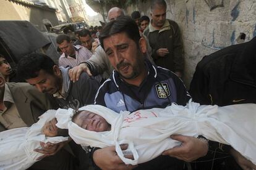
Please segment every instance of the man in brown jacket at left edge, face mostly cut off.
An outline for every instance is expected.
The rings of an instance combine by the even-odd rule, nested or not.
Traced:
[[[7,83],[0,73],[0,132],[18,127],[32,126],[38,116],[49,109],[58,108],[47,94],[41,94],[28,83]],[[74,157],[67,150],[33,164],[32,169],[75,169]]]

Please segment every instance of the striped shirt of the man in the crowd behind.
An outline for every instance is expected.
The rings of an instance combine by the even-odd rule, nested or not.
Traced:
[[[86,61],[92,57],[92,52],[83,46],[74,46],[75,49],[75,59],[69,55],[62,53],[59,57],[59,67],[66,68],[67,66],[75,67],[79,65],[80,62]]]

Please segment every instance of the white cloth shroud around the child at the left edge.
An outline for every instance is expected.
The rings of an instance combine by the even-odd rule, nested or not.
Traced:
[[[46,137],[41,128],[54,118],[56,110],[48,110],[31,127],[20,127],[0,132],[0,169],[27,169],[36,162],[42,153],[34,152],[41,148],[40,142],[59,143],[68,137]]]

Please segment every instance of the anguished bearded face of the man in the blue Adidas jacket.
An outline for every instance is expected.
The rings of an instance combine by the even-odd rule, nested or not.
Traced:
[[[126,33],[113,34],[103,44],[111,65],[124,79],[134,79],[142,73],[142,52]]]

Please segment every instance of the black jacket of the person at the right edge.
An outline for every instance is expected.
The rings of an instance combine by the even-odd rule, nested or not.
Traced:
[[[203,57],[190,84],[194,102],[256,103],[256,38]]]

